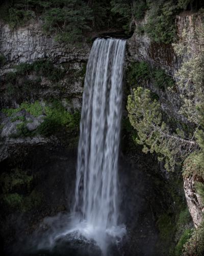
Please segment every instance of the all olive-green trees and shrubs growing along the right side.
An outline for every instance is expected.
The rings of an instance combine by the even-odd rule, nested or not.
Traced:
[[[193,187],[204,202],[204,91],[203,91],[203,59],[204,59],[203,25],[195,29],[190,37],[184,31],[183,38],[174,44],[177,54],[188,54],[187,61],[182,63],[176,74],[174,85],[165,86],[165,92],[175,93],[181,98],[179,114],[186,117],[185,126],[177,126],[166,120],[159,97],[154,96],[143,87],[148,82],[156,86],[154,79],[149,79],[149,69],[144,63],[132,63],[127,77],[132,87],[127,101],[130,122],[136,129],[134,141],[143,145],[143,152],[158,155],[159,161],[165,161],[167,170],[175,170],[177,166],[183,176],[193,177]],[[135,84],[134,84],[135,83]],[[179,122],[178,122],[179,123]],[[176,129],[173,129],[176,127]],[[202,203],[201,203],[202,205]],[[201,206],[202,208],[202,206]],[[185,228],[175,247],[176,255],[203,255],[203,223],[196,230]]]

